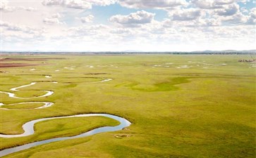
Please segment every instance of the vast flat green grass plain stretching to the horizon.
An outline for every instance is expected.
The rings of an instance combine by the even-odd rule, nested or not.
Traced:
[[[21,126],[33,119],[86,113],[115,114],[132,124],[122,131],[49,143],[5,157],[256,156],[256,63],[238,62],[250,55],[20,55],[8,58],[65,59],[11,61],[39,65],[1,68],[0,91],[11,92],[10,88],[37,81],[33,86],[20,88],[16,96],[40,96],[44,94],[42,90],[54,91],[54,94],[18,99],[0,93],[0,103],[6,107],[24,108],[0,110],[0,133],[23,133]],[[113,80],[99,82],[109,78]],[[58,84],[49,81],[58,81]],[[31,101],[54,105],[38,110],[25,109],[39,104],[8,105]],[[105,117],[44,121],[36,124],[32,136],[0,138],[0,149],[75,136],[99,126],[116,124],[118,122]]]

